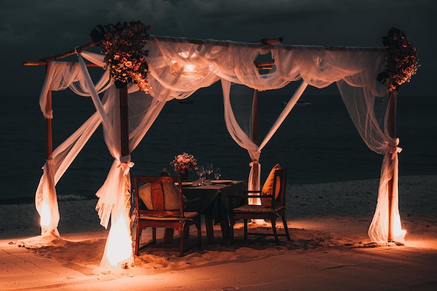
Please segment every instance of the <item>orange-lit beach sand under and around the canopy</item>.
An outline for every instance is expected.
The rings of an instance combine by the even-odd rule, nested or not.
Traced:
[[[0,290],[437,290],[436,188],[437,176],[399,177],[403,246],[369,244],[378,179],[292,185],[291,241],[280,237],[281,246],[272,238],[244,242],[242,223],[234,246],[218,225],[207,245],[202,225],[201,250],[178,258],[175,250],[146,248],[133,267],[108,274],[93,272],[108,236],[96,200],[59,202],[61,239],[45,243],[34,204],[3,204]]]

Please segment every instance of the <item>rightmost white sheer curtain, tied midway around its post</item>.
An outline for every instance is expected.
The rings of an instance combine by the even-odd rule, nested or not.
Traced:
[[[378,203],[373,220],[369,227],[369,237],[374,242],[387,242],[389,229],[389,182],[393,180],[392,193],[393,203],[393,237],[394,241],[404,243],[405,232],[401,229],[401,217],[398,207],[398,153],[399,139],[391,137],[388,133],[388,111],[394,106],[387,104],[387,98],[379,98],[371,94],[371,91],[359,87],[351,87],[346,82],[337,82],[343,102],[348,109],[355,127],[360,133],[367,147],[378,154],[384,155],[380,172],[380,184],[378,188]],[[394,94],[396,94],[394,92]],[[396,96],[393,96],[396,98]],[[393,100],[391,99],[390,102]]]

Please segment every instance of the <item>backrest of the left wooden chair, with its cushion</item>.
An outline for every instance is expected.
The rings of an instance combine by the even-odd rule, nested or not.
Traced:
[[[179,176],[134,176],[135,209],[152,216],[184,216]],[[140,208],[140,200],[146,209]]]

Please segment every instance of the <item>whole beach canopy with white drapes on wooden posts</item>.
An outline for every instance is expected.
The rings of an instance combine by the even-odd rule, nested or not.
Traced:
[[[396,75],[390,75],[389,72],[387,77],[387,59],[390,59],[387,46],[318,47],[268,41],[239,43],[143,33],[140,40],[135,40],[139,45],[138,50],[126,54],[126,51],[120,51],[120,47],[135,43],[129,44],[123,40],[116,49],[114,38],[108,38],[108,28],[111,27],[107,27],[106,37],[96,43],[105,47],[112,45],[112,52],[106,50],[106,54],[97,54],[78,48],[75,50],[77,62],[57,61],[56,58],[45,62],[47,73],[40,94],[40,107],[47,121],[52,119],[50,92],[67,88],[77,95],[91,96],[96,113],[47,155],[43,177],[36,191],[42,235],[59,236],[59,210],[54,186],[100,124],[103,125],[105,143],[114,158],[108,177],[96,193],[96,210],[101,225],[108,227],[111,220],[101,268],[119,268],[121,264],[133,262],[129,170],[134,164],[131,153],[167,101],[188,98],[202,87],[221,82],[226,127],[232,139],[246,149],[251,157],[249,188],[259,188],[260,151],[306,87],[323,89],[336,83],[362,140],[369,149],[384,155],[378,203],[369,237],[376,242],[403,242],[404,232],[401,230],[397,203],[397,154],[400,148],[394,134],[397,84],[391,83]],[[126,26],[124,29],[126,32]],[[127,31],[129,29],[132,27],[128,25]],[[267,73],[263,73],[265,70],[260,70],[262,65],[256,62],[258,57],[264,55],[273,60]],[[87,67],[89,64],[105,68],[99,80],[91,80]],[[145,64],[147,66],[144,68]],[[132,70],[128,71],[129,68]],[[283,112],[257,144],[251,126],[242,124],[241,119],[237,118],[239,111],[232,107],[234,84],[244,85],[256,92],[280,89],[290,82],[300,84],[295,92],[290,92],[291,98]],[[381,98],[387,94],[389,98]],[[110,258],[109,253],[118,253],[119,258]]]

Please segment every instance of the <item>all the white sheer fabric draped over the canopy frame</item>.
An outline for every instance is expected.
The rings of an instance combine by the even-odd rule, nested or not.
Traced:
[[[202,40],[190,42],[184,38],[163,38],[149,36],[147,43],[149,54],[147,64],[149,66],[150,94],[136,91],[135,84],[128,87],[128,115],[129,115],[129,152],[131,153],[147,133],[151,124],[161,112],[165,102],[172,98],[186,98],[202,87],[209,87],[214,82],[221,80],[223,89],[223,103],[225,107],[225,124],[231,137],[240,147],[247,149],[253,165],[258,167],[258,176],[255,177],[253,169],[249,174],[249,184],[260,186],[260,151],[274,135],[283,120],[292,110],[299,97],[308,85],[317,88],[327,87],[333,82],[338,82],[341,95],[350,108],[350,114],[357,125],[363,140],[369,148],[379,154],[389,156],[393,163],[383,163],[382,172],[390,172],[387,177],[393,177],[397,181],[397,154],[394,154],[394,141],[380,130],[378,121],[373,120],[372,100],[375,96],[385,95],[386,87],[376,81],[378,73],[384,70],[385,50],[366,48],[336,48],[303,47],[275,45],[255,45],[253,43],[235,43],[230,41]],[[275,64],[267,74],[260,74],[254,61],[260,54],[270,54]],[[96,107],[96,114],[79,128],[75,134],[68,138],[61,146],[55,149],[52,162],[45,165],[45,171],[41,178],[36,193],[37,209],[42,208],[43,198],[50,203],[52,225],[46,232],[57,232],[59,214],[57,211],[56,192],[54,185],[64,174],[68,165],[77,156],[96,127],[102,123],[105,142],[110,154],[114,157],[112,167],[103,186],[98,189],[99,197],[96,210],[101,218],[101,224],[108,226],[111,219],[111,230],[108,236],[105,254],[101,262],[101,268],[120,267],[121,263],[133,260],[132,251],[126,251],[126,258],[114,262],[109,258],[110,250],[131,250],[130,233],[130,176],[129,168],[133,166],[131,156],[121,156],[120,149],[120,114],[119,114],[119,90],[114,87],[107,72],[103,73],[101,80],[93,84],[82,57],[98,66],[104,66],[103,56],[91,52],[80,52],[77,64],[52,62],[47,70],[47,77],[40,95],[40,107],[47,119],[52,118],[52,112],[47,110],[46,96],[51,90],[61,90],[67,87],[82,96],[91,96]],[[269,133],[264,137],[261,144],[254,144],[251,136],[242,128],[250,128],[239,124],[235,118],[239,113],[235,112],[230,102],[232,94],[231,84],[242,84],[247,87],[264,91],[285,87],[289,82],[301,80],[302,84],[292,95],[288,105],[284,108]],[[102,100],[98,94],[105,92]],[[291,92],[290,92],[291,93]],[[291,95],[291,94],[290,94]],[[350,98],[352,96],[352,98]],[[91,102],[91,101],[90,101]],[[367,107],[362,107],[365,103]],[[354,107],[355,106],[355,107]],[[365,112],[358,112],[363,108]],[[355,111],[354,111],[355,110]],[[364,115],[363,115],[364,114]],[[372,115],[373,114],[373,115]],[[356,115],[356,116],[355,116]],[[317,118],[317,117],[315,117]],[[364,120],[364,121],[363,121]],[[363,123],[364,122],[364,123]],[[362,125],[364,124],[364,125]],[[388,154],[387,154],[388,153]],[[393,159],[391,160],[391,158]],[[389,158],[385,158],[389,159]],[[389,165],[390,164],[390,165]],[[50,174],[53,170],[53,174]],[[256,172],[256,171],[255,171]],[[380,196],[385,188],[381,176]],[[50,181],[53,181],[50,186]],[[396,205],[397,208],[397,205]],[[38,210],[40,212],[40,210]],[[378,198],[378,214],[372,223],[375,230],[369,230],[369,235],[374,240],[386,238],[383,233],[386,212],[383,202]],[[373,227],[373,225],[376,225]],[[400,226],[400,221],[399,221]],[[124,230],[124,240],[114,246],[113,229],[120,227]],[[114,230],[115,231],[115,230]],[[373,234],[378,232],[380,234]],[[118,251],[118,253],[120,253]],[[108,258],[107,258],[108,257]]]

